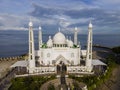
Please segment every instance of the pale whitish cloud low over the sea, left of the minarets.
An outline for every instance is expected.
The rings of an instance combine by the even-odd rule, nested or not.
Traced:
[[[28,16],[0,14],[0,30],[26,30],[25,24],[28,23],[27,20],[29,20]]]

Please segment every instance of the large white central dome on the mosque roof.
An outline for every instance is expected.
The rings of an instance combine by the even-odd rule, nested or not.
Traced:
[[[66,44],[66,38],[63,33],[58,32],[53,37],[54,44]]]

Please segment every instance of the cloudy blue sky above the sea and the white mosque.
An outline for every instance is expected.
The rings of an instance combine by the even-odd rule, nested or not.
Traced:
[[[87,34],[91,21],[94,34],[120,34],[120,0],[0,0],[0,30],[28,30],[30,18],[44,33]]]

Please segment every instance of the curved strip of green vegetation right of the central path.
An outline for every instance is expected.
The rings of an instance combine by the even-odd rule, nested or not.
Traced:
[[[106,63],[108,67],[103,75],[84,76],[84,77],[75,77],[71,75],[70,78],[85,83],[88,86],[88,90],[94,90],[96,87],[99,87],[102,83],[104,83],[106,80],[110,78],[112,74],[112,70],[114,69],[114,67],[117,66],[117,64],[115,63],[115,57],[113,55],[110,55],[107,58]]]

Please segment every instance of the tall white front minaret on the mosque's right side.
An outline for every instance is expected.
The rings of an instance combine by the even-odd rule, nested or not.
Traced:
[[[88,71],[91,71],[92,67],[92,23],[89,23],[88,27],[88,41],[87,41],[87,53],[86,53],[86,66]]]

